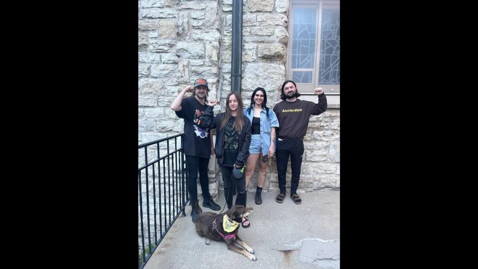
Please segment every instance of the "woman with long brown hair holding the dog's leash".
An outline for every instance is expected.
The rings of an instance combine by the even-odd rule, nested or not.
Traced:
[[[226,111],[214,117],[213,107],[217,100],[212,99],[201,116],[200,127],[216,128],[216,146],[214,151],[224,181],[224,195],[228,208],[233,206],[233,196],[237,190],[236,205],[246,206],[245,175],[242,167],[249,156],[250,121],[242,113],[244,106],[239,93],[231,92],[226,98]],[[236,176],[235,169],[242,170]],[[233,180],[235,179],[235,180]],[[247,226],[246,223],[243,223]]]

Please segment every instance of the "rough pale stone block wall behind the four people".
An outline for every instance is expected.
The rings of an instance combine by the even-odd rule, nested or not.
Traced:
[[[243,0],[245,106],[257,87],[266,90],[269,108],[279,100],[286,79],[288,15],[289,0]],[[199,77],[209,82],[209,98],[220,100],[215,113],[224,111],[231,91],[231,39],[232,0],[138,1],[138,144],[183,132],[183,120],[169,107],[178,92]],[[340,109],[311,117],[304,147],[298,192],[339,189]],[[138,154],[140,165],[144,152]],[[290,164],[287,171],[290,188]],[[222,178],[214,156],[209,177],[211,194],[217,197]],[[249,190],[255,191],[256,180],[257,168]],[[264,191],[278,191],[275,157]]]

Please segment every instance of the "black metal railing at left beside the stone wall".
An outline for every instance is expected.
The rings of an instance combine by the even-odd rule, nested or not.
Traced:
[[[178,137],[181,139],[180,147],[178,147]],[[170,143],[173,139],[174,147],[172,142]],[[138,168],[138,222],[141,230],[139,241],[138,229],[139,269],[146,265],[179,214],[182,212],[181,216],[186,216],[185,206],[189,202],[189,195],[185,181],[187,170],[183,146],[184,134],[138,145],[140,159],[138,165],[140,166]],[[165,154],[161,155],[162,152]],[[143,154],[144,156],[142,156]],[[155,160],[148,162],[148,158],[153,157]],[[152,185],[152,192],[150,192],[150,185]],[[146,198],[145,205],[143,204],[144,198]],[[150,198],[152,198],[152,204]],[[145,236],[147,237],[147,246],[145,246]]]

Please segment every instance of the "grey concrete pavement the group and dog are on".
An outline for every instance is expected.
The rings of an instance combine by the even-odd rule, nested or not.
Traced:
[[[299,193],[300,205],[294,204],[289,193],[279,204],[276,195],[262,192],[262,204],[256,205],[255,193],[247,193],[247,207],[253,211],[248,217],[250,227],[239,228],[239,236],[254,250],[256,261],[228,250],[224,242],[213,240],[206,245],[187,206],[187,217],[176,220],[144,269],[340,268],[340,191]],[[217,203],[224,206],[223,191]]]

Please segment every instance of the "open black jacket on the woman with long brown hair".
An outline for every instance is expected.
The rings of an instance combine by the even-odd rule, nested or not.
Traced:
[[[226,128],[221,130],[221,119],[224,117],[224,113],[219,113],[214,117],[213,107],[208,106],[206,111],[203,112],[200,120],[201,123],[198,125],[201,128],[216,128],[216,144],[214,151],[216,153],[216,159],[219,164],[222,164],[224,161],[223,148],[224,148],[224,131]],[[246,116],[244,117],[244,127],[240,132],[239,138],[239,154],[236,159],[236,164],[238,166],[243,166],[247,157],[249,157],[249,145],[250,145],[250,121]]]

